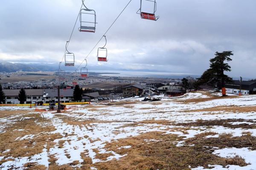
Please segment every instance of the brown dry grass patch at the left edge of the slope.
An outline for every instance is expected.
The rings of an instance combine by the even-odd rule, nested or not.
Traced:
[[[0,133],[0,156],[5,157],[19,157],[19,156],[33,156],[41,153],[44,145],[52,145],[55,139],[59,139],[62,136],[58,133],[50,134],[55,130],[54,126],[41,126],[39,123],[48,122],[40,114],[26,114],[23,121],[17,121],[14,124],[6,127],[4,133]],[[35,123],[39,122],[39,123]],[[17,129],[23,129],[23,131],[17,131]],[[20,140],[18,137],[25,135],[35,135],[32,139]],[[16,140],[17,139],[17,140]],[[6,149],[10,149],[7,153],[1,153]]]

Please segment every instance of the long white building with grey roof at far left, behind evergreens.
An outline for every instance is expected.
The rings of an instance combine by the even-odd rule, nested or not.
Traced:
[[[25,89],[26,92],[26,102],[25,104],[41,102],[43,98],[43,89]],[[20,104],[18,100],[18,95],[20,93],[19,89],[3,89],[6,96],[6,104]]]

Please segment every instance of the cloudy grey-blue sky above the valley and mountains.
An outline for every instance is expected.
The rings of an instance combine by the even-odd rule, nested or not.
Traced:
[[[128,1],[85,0],[98,24],[95,33],[79,32],[76,24],[68,47],[76,66]],[[106,34],[108,62],[96,58],[102,40],[88,65],[201,75],[216,51],[233,51],[228,75],[256,78],[255,6],[255,0],[157,0],[160,18],[151,21],[136,14],[140,0],[132,0]],[[60,62],[80,7],[81,0],[1,0],[0,60]],[[152,11],[153,4],[142,10]]]

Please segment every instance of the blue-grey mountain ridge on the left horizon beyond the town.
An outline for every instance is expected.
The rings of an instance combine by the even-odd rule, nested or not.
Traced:
[[[37,63],[11,63],[0,62],[0,72],[16,72],[16,71],[56,71],[57,66],[54,64],[37,64]]]

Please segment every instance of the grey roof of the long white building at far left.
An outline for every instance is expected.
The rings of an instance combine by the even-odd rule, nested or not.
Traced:
[[[26,96],[43,96],[43,89],[24,89]],[[18,96],[20,89],[3,89],[3,92],[6,96]]]

